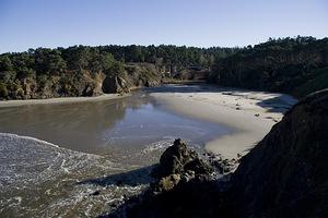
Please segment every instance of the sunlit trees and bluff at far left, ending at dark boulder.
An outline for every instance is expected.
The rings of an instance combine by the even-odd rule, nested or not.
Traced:
[[[0,56],[0,98],[30,99],[101,94],[106,75],[124,74],[124,65],[97,48],[30,49]]]

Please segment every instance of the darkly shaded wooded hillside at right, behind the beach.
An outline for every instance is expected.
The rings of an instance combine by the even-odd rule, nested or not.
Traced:
[[[270,38],[220,59],[210,81],[302,97],[328,87],[328,38]]]

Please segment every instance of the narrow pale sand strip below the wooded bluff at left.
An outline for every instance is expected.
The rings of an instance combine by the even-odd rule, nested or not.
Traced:
[[[110,100],[110,99],[126,98],[129,96],[131,96],[131,94],[125,94],[125,95],[103,94],[93,97],[58,97],[58,98],[46,98],[46,99],[2,100],[0,101],[0,108],[25,106],[25,105],[70,104],[70,102]]]

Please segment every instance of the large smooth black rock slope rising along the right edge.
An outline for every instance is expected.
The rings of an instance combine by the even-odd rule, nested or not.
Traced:
[[[328,217],[328,89],[295,105],[234,174],[237,217]]]

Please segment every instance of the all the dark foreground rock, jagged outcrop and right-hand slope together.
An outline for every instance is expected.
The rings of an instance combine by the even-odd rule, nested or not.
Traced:
[[[242,158],[232,180],[211,180],[211,167],[176,141],[152,189],[109,217],[122,210],[127,217],[328,217],[327,133],[325,89],[295,105]]]

